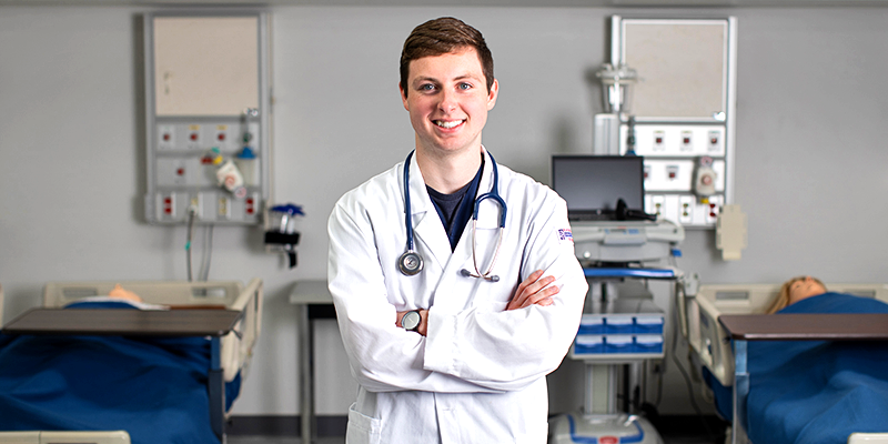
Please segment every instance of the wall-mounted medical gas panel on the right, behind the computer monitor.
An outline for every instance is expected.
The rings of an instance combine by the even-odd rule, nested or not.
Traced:
[[[645,158],[645,211],[714,228],[733,202],[736,19],[615,17],[613,24],[612,58],[638,77],[619,153]]]

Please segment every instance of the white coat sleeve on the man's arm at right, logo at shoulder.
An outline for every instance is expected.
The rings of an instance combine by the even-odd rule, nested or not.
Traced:
[[[576,336],[588,284],[567,236],[567,206],[546,189],[529,203],[521,280],[536,270],[556,279],[561,291],[548,306],[455,313],[430,309],[424,367],[488,389],[515,391],[561,364]],[[561,231],[559,231],[561,230]],[[566,232],[564,230],[567,230]],[[515,284],[517,286],[517,283]]]

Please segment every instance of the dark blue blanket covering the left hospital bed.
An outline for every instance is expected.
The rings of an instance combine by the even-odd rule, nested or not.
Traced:
[[[213,443],[204,337],[0,334],[0,431],[125,430],[133,444]],[[226,408],[240,379],[228,384]]]

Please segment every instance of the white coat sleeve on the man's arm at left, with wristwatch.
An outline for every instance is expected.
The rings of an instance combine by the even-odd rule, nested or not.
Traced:
[[[341,200],[329,221],[327,279],[352,374],[371,392],[404,390],[497,393],[454,375],[423,369],[425,337],[395,325],[396,310],[386,296],[375,229],[360,206]]]

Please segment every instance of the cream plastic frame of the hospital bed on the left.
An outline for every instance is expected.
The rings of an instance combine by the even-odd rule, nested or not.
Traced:
[[[210,387],[208,389],[210,391],[211,426],[220,442],[224,442],[224,424],[229,416],[229,412],[225,411],[224,383],[234,381],[239,373],[241,380],[246,377],[253,355],[253,346],[256,339],[259,339],[262,326],[261,314],[264,296],[262,280],[253,279],[246,287],[238,281],[50,282],[47,283],[43,290],[43,307],[61,309],[72,302],[107,296],[117,284],[120,284],[127,291],[135,293],[147,304],[167,305],[171,310],[203,309],[213,312],[214,310],[224,310],[241,313],[228,334],[218,340],[213,337],[212,369],[208,369],[210,370]],[[1,302],[2,299],[0,299]],[[13,323],[14,321],[10,324]],[[27,433],[32,435],[27,435]],[[52,438],[73,436],[81,440],[64,441],[64,443],[129,443],[129,435],[123,440],[119,432],[77,432],[74,435],[67,434],[63,436],[53,436],[52,433],[47,435],[47,433],[39,431],[26,432],[26,435],[4,435],[0,433],[0,443],[37,444],[61,442],[59,440],[44,441],[44,436]]]

